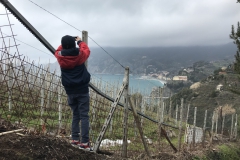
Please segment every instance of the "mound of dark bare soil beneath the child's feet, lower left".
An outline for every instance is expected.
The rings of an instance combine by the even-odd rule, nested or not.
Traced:
[[[25,132],[9,133],[6,131],[19,129],[9,121],[0,118],[0,159],[1,160],[102,160],[112,159],[106,154],[96,154],[72,147],[68,139]],[[104,152],[103,152],[104,153]],[[109,154],[109,153],[108,153]],[[113,154],[112,154],[113,155]],[[118,159],[114,157],[114,159]]]

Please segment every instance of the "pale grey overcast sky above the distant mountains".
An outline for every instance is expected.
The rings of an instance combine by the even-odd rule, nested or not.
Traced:
[[[76,27],[72,28],[29,0],[10,3],[52,44],[58,47],[64,35],[89,37],[102,47],[152,47],[221,45],[229,39],[231,25],[240,21],[237,0],[32,0]],[[0,4],[0,14],[5,13]],[[21,54],[55,62],[51,53],[10,15]],[[7,24],[0,16],[0,25]],[[80,31],[79,31],[80,30]],[[9,34],[9,27],[2,27]],[[97,47],[88,40],[89,47]],[[12,42],[11,42],[12,43]],[[0,42],[2,46],[2,41]],[[47,54],[48,53],[48,54]]]

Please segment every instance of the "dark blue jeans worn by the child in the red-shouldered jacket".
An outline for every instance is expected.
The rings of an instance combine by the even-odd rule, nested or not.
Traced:
[[[79,140],[81,121],[81,142],[89,142],[89,93],[68,95],[68,104],[72,109],[72,139]]]

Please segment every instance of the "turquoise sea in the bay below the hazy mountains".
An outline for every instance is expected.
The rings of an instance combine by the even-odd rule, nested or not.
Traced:
[[[123,83],[123,74],[91,74],[92,82],[99,83],[101,86],[121,87]],[[154,88],[162,87],[166,83],[163,80],[152,78],[149,76],[130,75],[129,90],[130,93],[141,93],[142,95],[150,95]]]

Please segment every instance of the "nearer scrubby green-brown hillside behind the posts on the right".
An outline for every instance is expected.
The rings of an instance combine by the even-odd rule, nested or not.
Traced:
[[[219,84],[223,85],[220,91],[217,90]],[[197,107],[197,126],[203,126],[204,113],[208,110],[207,127],[211,127],[213,111],[223,107],[222,114],[226,115],[225,126],[230,125],[231,115],[238,112],[240,106],[239,94],[232,92],[231,89],[239,88],[240,82],[236,74],[209,76],[173,95],[173,106],[180,104],[181,98],[184,98],[185,109],[187,104],[190,104],[190,124],[193,123],[194,107]]]

